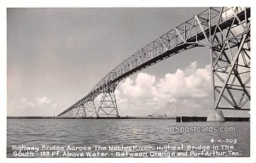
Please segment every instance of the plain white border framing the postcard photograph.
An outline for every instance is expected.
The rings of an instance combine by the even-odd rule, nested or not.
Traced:
[[[9,163],[37,163],[37,162],[227,162],[230,163],[256,163],[256,127],[255,127],[255,104],[253,99],[251,100],[251,157],[249,158],[147,158],[147,159],[67,159],[67,158],[54,158],[54,159],[9,159],[6,158],[6,108],[7,108],[7,87],[6,87],[6,8],[34,8],[34,7],[51,7],[51,8],[81,8],[81,7],[210,7],[210,6],[250,6],[252,8],[252,24],[254,19],[253,0],[91,0],[91,1],[79,1],[79,0],[0,0],[0,162]],[[254,26],[254,25],[252,25]],[[255,28],[254,28],[255,29]],[[255,51],[255,32],[252,32],[251,47],[253,52]],[[251,52],[251,53],[253,53]],[[255,62],[252,56],[253,63]],[[252,82],[254,80],[254,65],[252,65]],[[253,85],[253,84],[252,84]],[[254,97],[255,88],[252,87],[252,97]],[[214,160],[213,160],[214,159]]]

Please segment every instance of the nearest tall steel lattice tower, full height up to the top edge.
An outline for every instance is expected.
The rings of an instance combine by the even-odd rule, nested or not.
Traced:
[[[222,8],[223,10],[224,8]],[[221,29],[219,15],[211,37],[212,82],[215,110],[250,110],[250,19],[230,8],[230,25]],[[245,10],[247,12],[247,10]]]

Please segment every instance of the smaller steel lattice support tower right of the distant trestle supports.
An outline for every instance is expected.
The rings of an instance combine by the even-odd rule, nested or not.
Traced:
[[[117,116],[119,117],[119,111],[116,104],[114,91],[102,93],[102,99],[99,105],[99,109],[96,112],[97,116]]]

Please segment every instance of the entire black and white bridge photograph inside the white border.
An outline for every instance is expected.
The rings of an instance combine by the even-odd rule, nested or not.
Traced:
[[[6,158],[250,158],[251,13],[6,8]]]

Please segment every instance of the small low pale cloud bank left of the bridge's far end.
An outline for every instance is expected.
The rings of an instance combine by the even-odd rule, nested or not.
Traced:
[[[55,114],[57,104],[51,103],[49,98],[35,98],[29,101],[26,98],[21,98],[19,103],[11,102],[9,104],[8,115],[24,115],[24,116],[52,116]],[[15,110],[11,110],[15,109]]]

